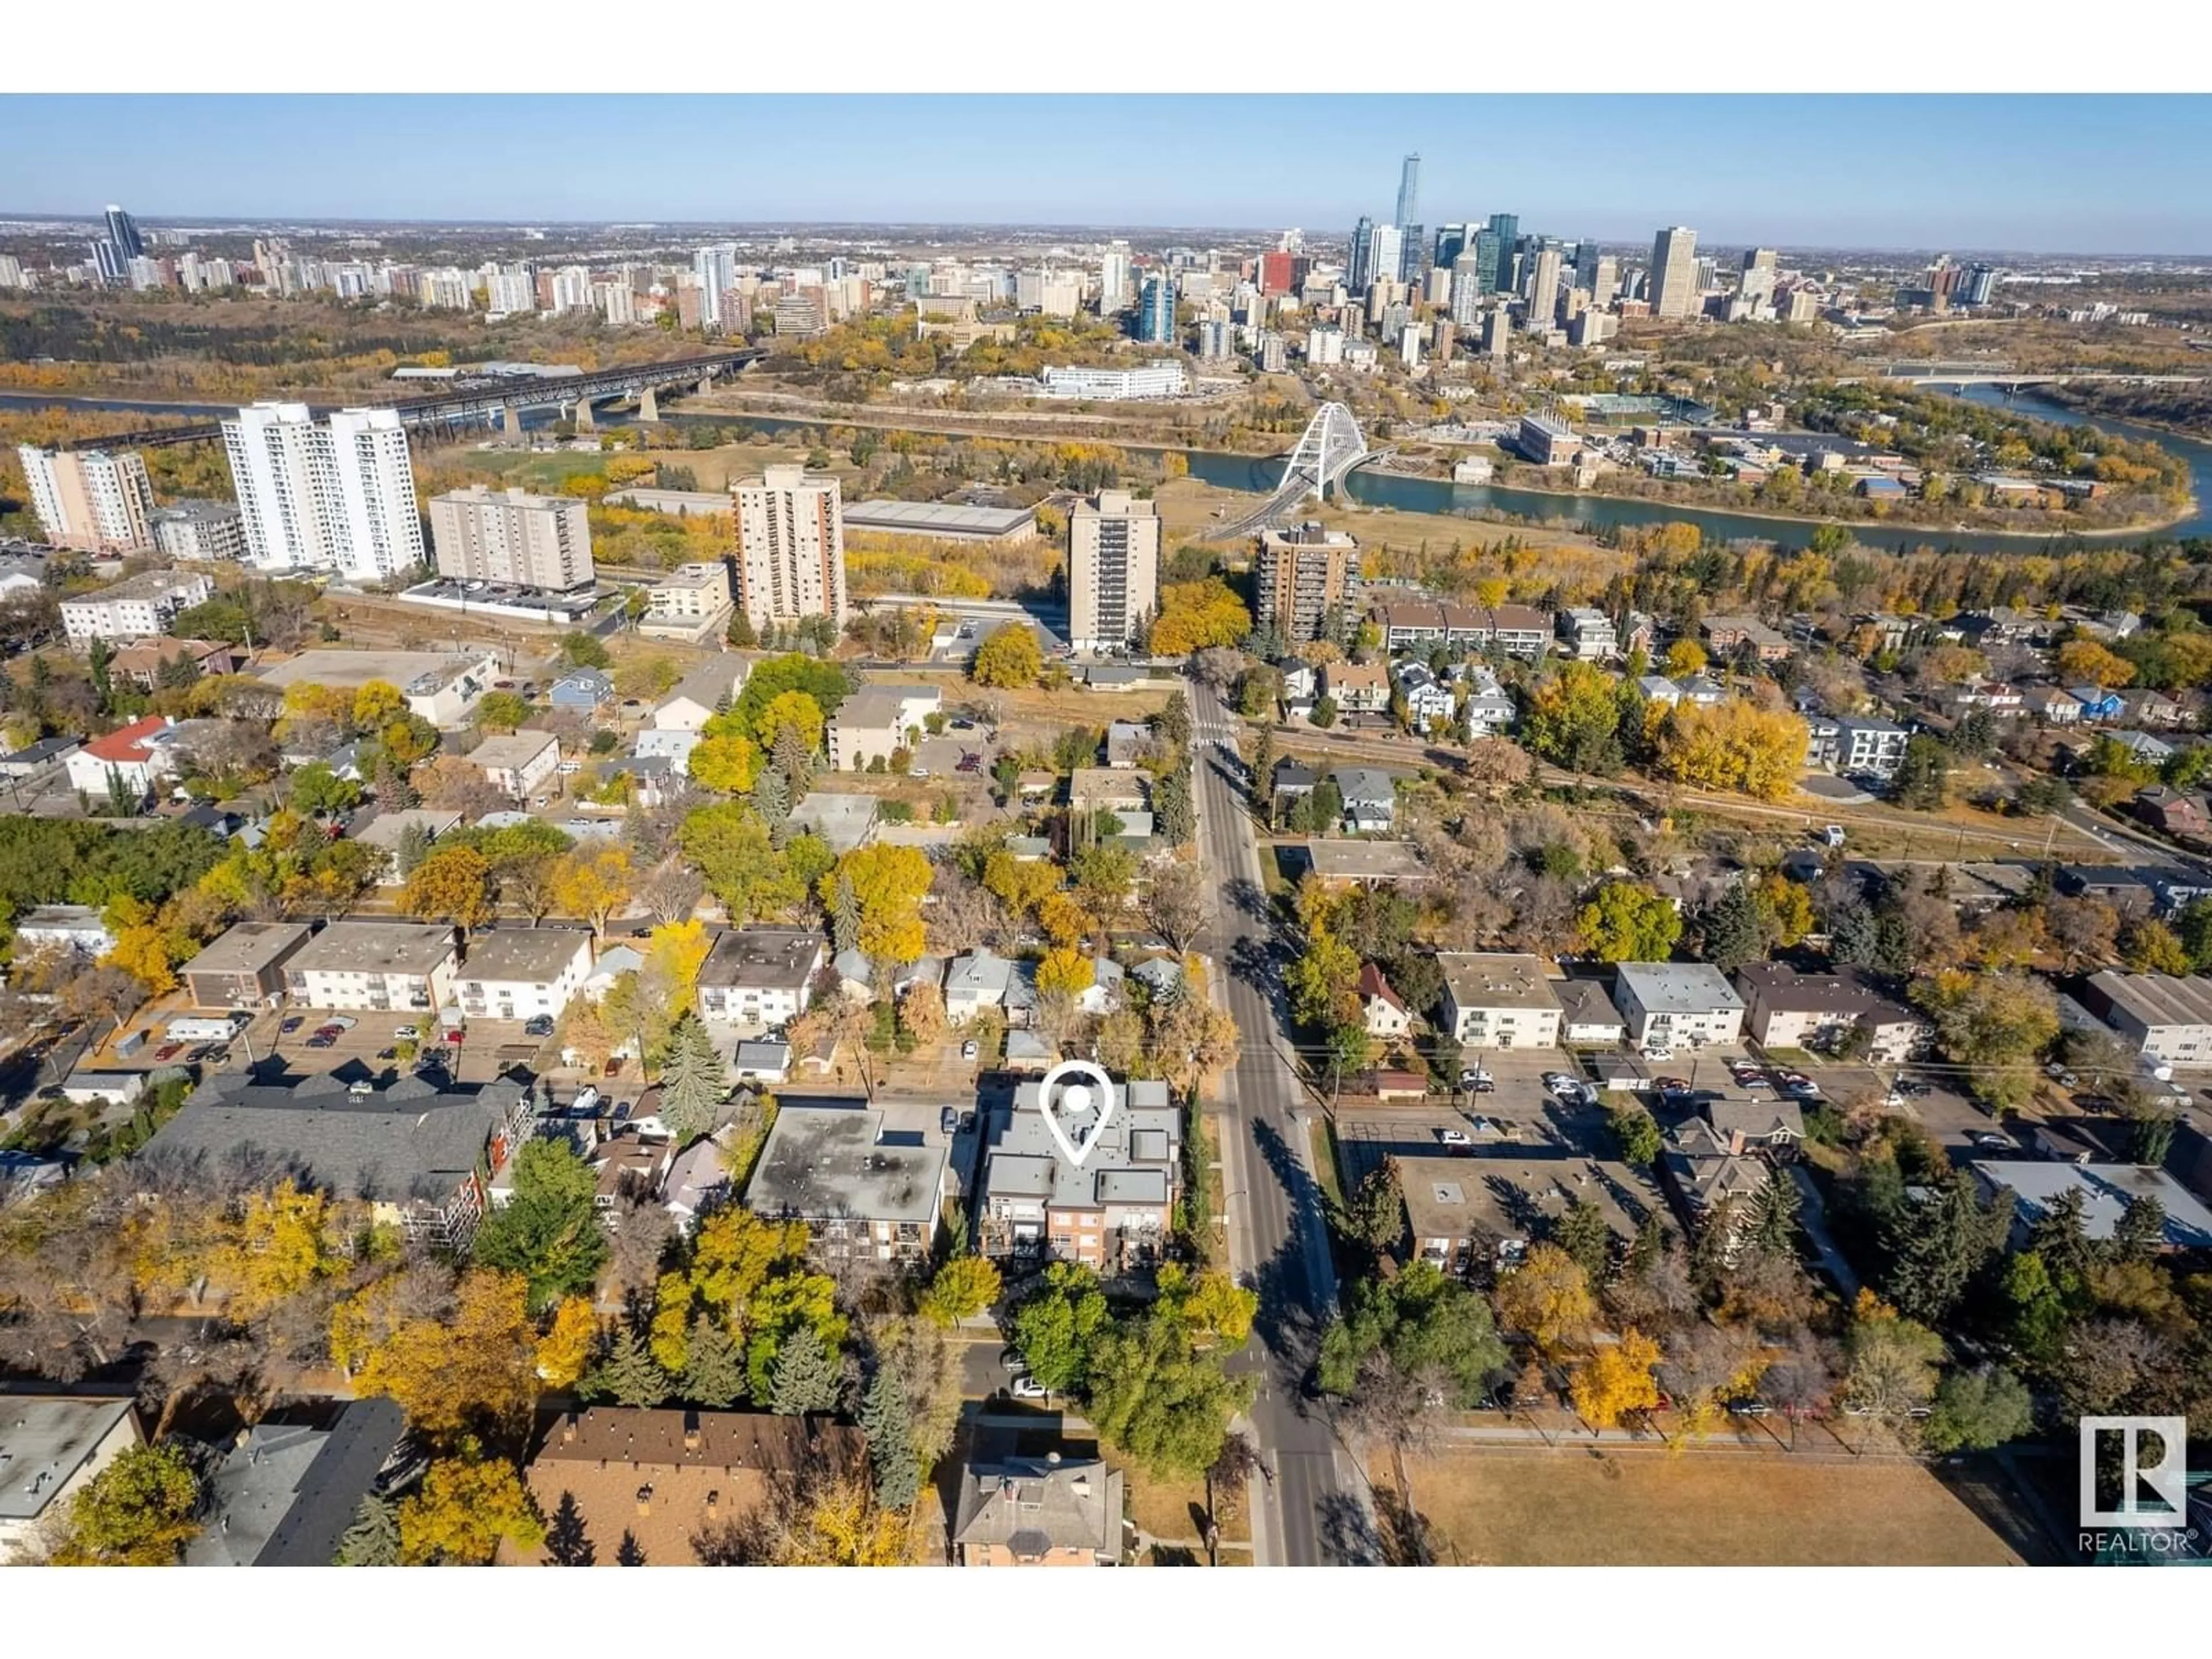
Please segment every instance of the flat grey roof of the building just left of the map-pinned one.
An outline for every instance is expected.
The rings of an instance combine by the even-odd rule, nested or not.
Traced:
[[[745,1206],[765,1217],[933,1223],[945,1188],[942,1139],[880,1144],[883,1113],[867,1102],[783,1102]]]

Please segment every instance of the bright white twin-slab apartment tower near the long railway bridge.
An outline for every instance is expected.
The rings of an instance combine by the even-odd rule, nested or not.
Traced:
[[[422,564],[407,429],[394,409],[257,403],[223,422],[246,557],[263,571],[380,582]]]

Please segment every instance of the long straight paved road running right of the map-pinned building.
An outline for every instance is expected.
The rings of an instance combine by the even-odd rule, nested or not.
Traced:
[[[1243,1046],[1225,1082],[1221,1135],[1230,1263],[1259,1290],[1259,1343],[1241,1363],[1259,1374],[1252,1427],[1274,1471],[1259,1515],[1259,1559],[1272,1566],[1376,1559],[1365,1482],[1323,1407],[1305,1400],[1321,1327],[1336,1310],[1327,1219],[1298,1113],[1305,1086],[1292,1064],[1259,841],[1243,803],[1237,717],[1192,684],[1199,774],[1199,852],[1217,880],[1217,914],[1201,945],[1221,967],[1221,998]]]

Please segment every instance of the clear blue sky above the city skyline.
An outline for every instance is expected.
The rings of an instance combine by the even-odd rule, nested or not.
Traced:
[[[0,212],[845,219],[2212,254],[2212,97],[0,97]]]

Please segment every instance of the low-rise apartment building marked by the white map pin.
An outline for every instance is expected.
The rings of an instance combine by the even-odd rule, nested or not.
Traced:
[[[1157,1079],[1110,1084],[1113,1110],[1082,1166],[1062,1157],[1040,1110],[1040,1084],[991,1113],[975,1221],[987,1256],[1079,1261],[1104,1274],[1159,1261],[1175,1225],[1183,1115]],[[1064,1115],[1082,1144],[1091,1115]]]

